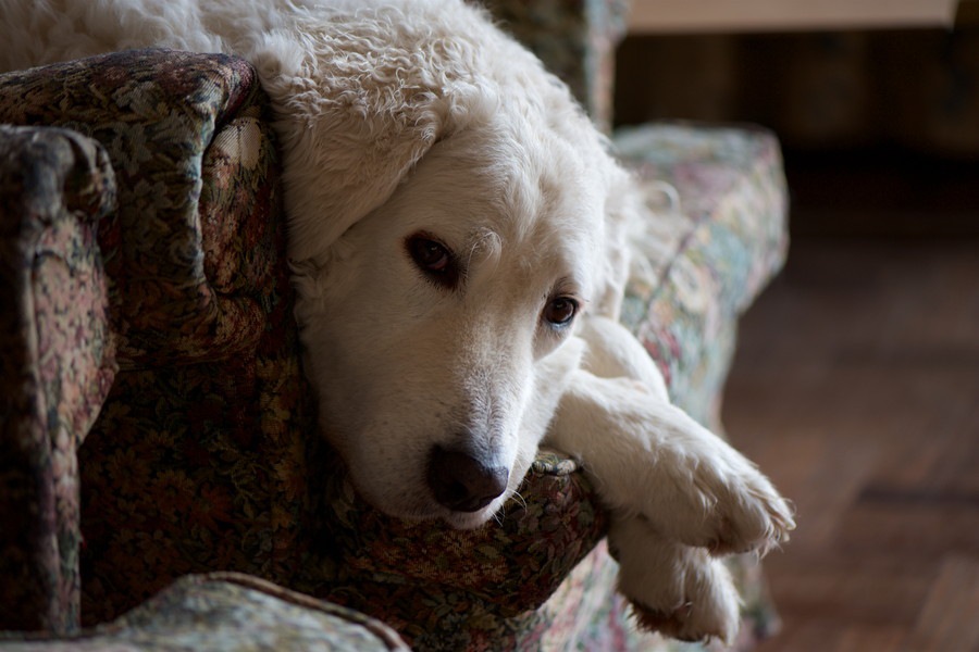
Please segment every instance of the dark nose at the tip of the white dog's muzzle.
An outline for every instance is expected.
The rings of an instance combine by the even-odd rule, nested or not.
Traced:
[[[469,453],[436,446],[429,459],[429,487],[454,512],[478,512],[507,489],[505,466],[486,466]]]

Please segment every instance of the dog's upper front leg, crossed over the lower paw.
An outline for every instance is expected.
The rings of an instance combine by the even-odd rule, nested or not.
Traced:
[[[592,317],[548,437],[579,455],[609,506],[715,554],[764,553],[788,540],[792,510],[754,464],[672,405],[643,347]],[[594,373],[593,373],[594,372]]]

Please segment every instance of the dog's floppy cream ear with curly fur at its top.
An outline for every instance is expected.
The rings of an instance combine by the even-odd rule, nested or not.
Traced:
[[[435,142],[492,111],[493,92],[472,72],[473,45],[433,39],[436,28],[364,10],[272,34],[257,48],[252,61],[278,112],[294,263],[322,262]]]

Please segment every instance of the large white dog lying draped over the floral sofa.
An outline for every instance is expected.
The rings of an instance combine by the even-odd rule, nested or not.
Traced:
[[[543,438],[614,511],[650,628],[734,637],[714,555],[794,527],[617,324],[641,208],[568,89],[460,0],[0,0],[0,70],[165,46],[249,60],[284,155],[322,428],[376,507],[476,527]]]

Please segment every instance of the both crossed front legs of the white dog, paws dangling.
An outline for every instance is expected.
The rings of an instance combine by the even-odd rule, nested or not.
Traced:
[[[620,589],[640,623],[669,636],[733,638],[738,600],[711,554],[764,553],[792,511],[757,468],[670,404],[659,371],[623,327],[591,318],[548,439],[579,456],[612,510]]]

